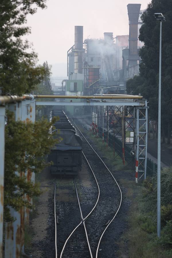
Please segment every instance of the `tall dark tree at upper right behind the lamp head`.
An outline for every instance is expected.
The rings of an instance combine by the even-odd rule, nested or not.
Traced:
[[[140,49],[140,77],[144,83],[139,87],[141,95],[149,100],[150,116],[157,119],[158,114],[158,82],[159,82],[159,32],[160,24],[154,13],[162,12],[166,21],[162,24],[162,124],[163,130],[168,128],[170,143],[172,127],[172,0],[152,0],[141,19],[139,40],[144,42]],[[140,80],[141,80],[140,78]],[[133,80],[133,84],[135,79]],[[131,85],[131,81],[129,82]],[[128,86],[129,87],[129,86]],[[135,89],[135,86],[134,86]]]

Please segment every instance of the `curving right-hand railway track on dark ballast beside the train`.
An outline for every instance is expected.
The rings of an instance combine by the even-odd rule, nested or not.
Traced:
[[[66,239],[60,254],[60,258],[72,257],[72,255],[68,256],[70,254],[65,254],[69,240],[73,237],[77,237],[76,241],[80,241],[80,238],[81,241],[83,241],[83,235],[85,235],[84,237],[87,240],[87,251],[83,253],[82,257],[114,258],[116,256],[114,255],[112,248],[112,239],[108,239],[109,232],[107,231],[120,209],[122,192],[113,174],[105,165],[101,157],[99,157],[76,124],[75,127],[83,138],[83,156],[91,169],[91,172],[93,173],[97,184],[98,195],[97,201],[95,202],[93,208],[90,212],[88,212],[87,210],[83,209],[83,204],[80,204],[77,193],[77,185],[74,181],[77,201],[81,214],[81,221]],[[110,192],[110,195],[108,195],[108,191]],[[81,228],[84,228],[84,230],[81,230]],[[115,232],[113,234],[115,234]],[[107,238],[104,237],[105,235]]]

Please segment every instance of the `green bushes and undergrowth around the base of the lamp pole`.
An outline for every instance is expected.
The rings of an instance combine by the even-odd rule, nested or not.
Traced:
[[[161,238],[156,234],[156,177],[143,181],[143,195],[138,186],[134,189],[137,197],[132,200],[128,218],[130,228],[125,235],[129,244],[129,257],[172,257],[172,168],[161,171]]]

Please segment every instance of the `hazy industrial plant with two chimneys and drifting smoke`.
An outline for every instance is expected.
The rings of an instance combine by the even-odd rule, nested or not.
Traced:
[[[139,74],[143,45],[138,40],[142,24],[141,4],[128,4],[129,35],[83,38],[83,26],[75,26],[75,42],[67,51],[67,77],[62,81],[62,95],[126,94],[126,81]],[[60,92],[59,92],[60,93]],[[72,101],[72,100],[71,100]],[[79,99],[74,101],[80,101]],[[70,114],[82,108],[66,107]]]

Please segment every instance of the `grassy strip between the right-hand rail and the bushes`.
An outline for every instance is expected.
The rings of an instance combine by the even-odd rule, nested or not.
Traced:
[[[152,214],[146,213],[142,202],[142,184],[120,179],[127,189],[125,196],[131,200],[129,216],[126,218],[129,229],[118,241],[118,256],[121,258],[167,258],[172,257],[171,251],[159,245],[156,234],[156,222]],[[128,254],[126,255],[126,243]]]

